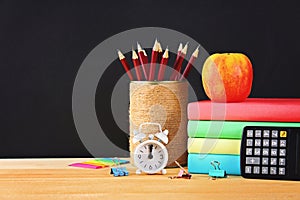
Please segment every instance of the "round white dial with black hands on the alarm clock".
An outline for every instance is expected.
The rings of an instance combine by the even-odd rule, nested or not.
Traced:
[[[159,172],[166,167],[167,162],[167,148],[156,140],[147,140],[135,148],[134,164],[148,174]]]

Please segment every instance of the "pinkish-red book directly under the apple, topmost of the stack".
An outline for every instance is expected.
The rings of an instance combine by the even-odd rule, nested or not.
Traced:
[[[238,103],[189,103],[189,120],[300,122],[300,98],[248,98]]]

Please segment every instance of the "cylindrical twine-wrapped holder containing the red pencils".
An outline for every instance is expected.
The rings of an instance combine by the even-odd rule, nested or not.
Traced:
[[[187,163],[187,101],[188,84],[186,81],[131,81],[130,83],[130,155],[136,144],[132,139],[134,130],[145,122],[159,123],[162,130],[169,131],[168,167]],[[158,132],[157,127],[149,126],[143,133]]]

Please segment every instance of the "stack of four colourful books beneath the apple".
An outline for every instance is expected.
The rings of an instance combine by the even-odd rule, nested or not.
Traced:
[[[300,127],[300,99],[249,98],[239,103],[208,100],[188,105],[188,170],[207,174],[218,161],[227,174],[240,175],[245,126]]]

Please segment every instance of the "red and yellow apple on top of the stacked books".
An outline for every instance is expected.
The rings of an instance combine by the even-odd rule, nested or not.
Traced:
[[[209,56],[202,69],[206,95],[215,102],[241,102],[251,92],[252,64],[241,53],[217,53]]]

